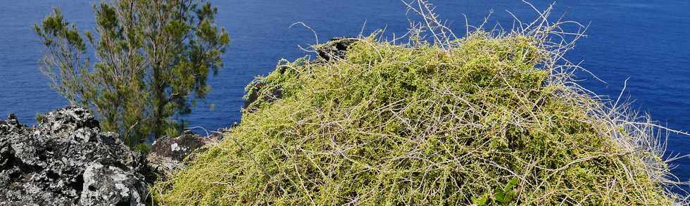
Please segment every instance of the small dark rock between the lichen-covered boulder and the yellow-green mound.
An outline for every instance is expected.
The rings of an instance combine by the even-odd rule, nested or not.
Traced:
[[[151,171],[164,179],[165,176],[184,167],[185,157],[195,151],[199,152],[199,148],[211,146],[217,142],[218,136],[203,137],[185,131],[177,138],[164,137],[156,140],[151,146],[151,152],[146,156],[146,161]]]

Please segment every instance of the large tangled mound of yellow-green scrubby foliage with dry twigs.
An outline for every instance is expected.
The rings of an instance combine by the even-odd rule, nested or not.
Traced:
[[[668,205],[531,37],[449,51],[363,39],[343,60],[282,62],[242,124],[169,181],[165,205]],[[261,98],[260,98],[261,99]],[[639,161],[638,161],[639,160]]]

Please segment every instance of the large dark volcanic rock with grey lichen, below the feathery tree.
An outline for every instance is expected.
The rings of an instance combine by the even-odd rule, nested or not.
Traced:
[[[0,122],[0,205],[144,205],[145,160],[84,108]]]

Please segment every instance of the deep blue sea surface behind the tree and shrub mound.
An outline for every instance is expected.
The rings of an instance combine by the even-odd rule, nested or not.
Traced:
[[[94,25],[96,1],[0,0],[0,115],[14,112],[20,122],[35,124],[35,114],[61,108],[68,102],[49,88],[39,72],[42,44],[32,25],[61,8],[80,29]],[[244,86],[253,77],[267,75],[278,60],[306,55],[299,45],[317,42],[311,30],[290,27],[303,22],[318,34],[318,42],[331,37],[370,34],[385,29],[387,37],[404,34],[408,27],[405,6],[399,0],[214,0],[217,20],[232,39],[223,58],[225,66],[210,77],[211,94],[185,118],[190,126],[206,129],[239,122]],[[546,8],[547,1],[535,2]],[[549,3],[551,1],[548,1]],[[458,34],[465,33],[465,16],[479,25],[493,11],[489,27],[513,25],[513,17],[533,20],[533,8],[522,1],[432,0],[437,13]],[[617,98],[627,79],[623,98],[672,129],[690,131],[690,1],[582,0],[558,1],[555,17],[589,25],[588,37],[568,54],[603,82],[580,74],[582,85],[600,95]],[[211,104],[215,105],[211,107]],[[690,154],[690,136],[670,134],[667,154]],[[682,181],[690,179],[690,158],[672,162]]]

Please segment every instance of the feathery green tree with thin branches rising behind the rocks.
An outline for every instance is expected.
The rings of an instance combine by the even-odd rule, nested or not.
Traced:
[[[41,70],[70,103],[96,112],[130,146],[177,135],[222,67],[230,42],[203,0],[119,0],[94,5],[94,32],[58,8],[35,25],[46,46]]]

